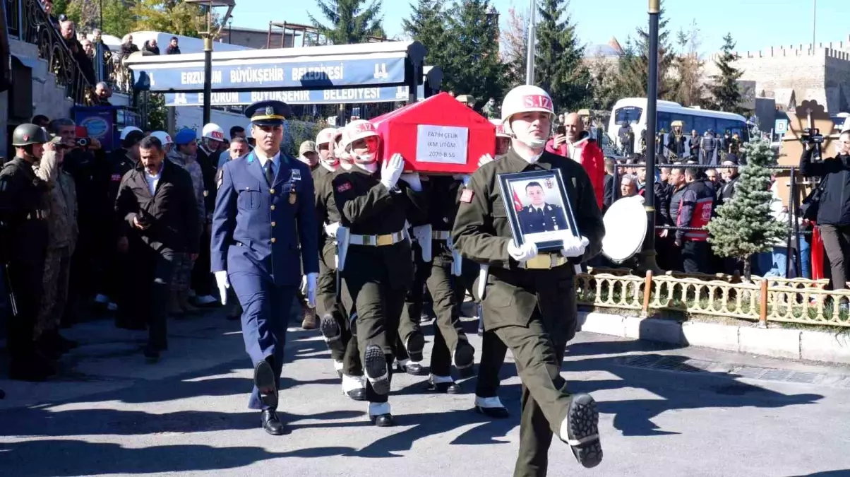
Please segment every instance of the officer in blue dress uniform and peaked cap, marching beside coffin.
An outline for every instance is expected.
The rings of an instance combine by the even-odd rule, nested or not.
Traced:
[[[280,151],[289,106],[248,106],[256,148],[224,164],[212,216],[212,273],[222,304],[232,284],[242,306],[242,338],[254,365],[248,407],[261,410],[263,429],[283,434],[275,410],[292,300],[307,275],[315,305],[319,249],[309,167]]]

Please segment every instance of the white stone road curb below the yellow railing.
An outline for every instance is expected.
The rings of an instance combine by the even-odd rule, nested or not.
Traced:
[[[850,336],[785,328],[638,318],[580,312],[581,331],[620,338],[723,349],[773,358],[850,364]]]

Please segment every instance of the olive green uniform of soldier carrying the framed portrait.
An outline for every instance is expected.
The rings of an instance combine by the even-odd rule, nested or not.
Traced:
[[[511,228],[497,176],[553,168],[559,168],[564,176],[575,222],[590,244],[581,258],[570,259],[575,262],[558,253],[551,258],[556,266],[533,268],[548,254],[541,253],[526,264],[508,255]],[[496,332],[511,349],[523,383],[514,476],[539,477],[547,473],[552,435],[559,433],[570,412],[571,397],[560,371],[564,348],[577,325],[574,264],[592,258],[601,249],[602,213],[581,165],[549,152],[530,164],[510,150],[501,160],[479,168],[468,188],[472,193],[462,197],[452,238],[464,257],[490,264],[482,303],[484,329]]]

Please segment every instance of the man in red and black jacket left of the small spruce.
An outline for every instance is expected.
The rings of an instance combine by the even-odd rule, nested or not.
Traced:
[[[703,229],[714,210],[714,189],[708,179],[697,179],[699,171],[685,169],[685,185],[679,202],[677,227]],[[682,249],[683,268],[686,273],[706,273],[709,260],[708,230],[676,230],[676,246]]]

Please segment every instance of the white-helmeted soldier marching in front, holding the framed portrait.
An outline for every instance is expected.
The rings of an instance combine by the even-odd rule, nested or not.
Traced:
[[[546,475],[553,433],[570,445],[582,465],[593,467],[602,460],[596,402],[590,395],[567,393],[560,369],[577,327],[575,264],[602,247],[602,213],[584,168],[545,151],[553,117],[545,91],[530,85],[513,88],[501,114],[506,131],[513,133],[511,150],[473,173],[452,238],[464,257],[490,265],[484,329],[495,331],[511,349],[523,383],[514,475]],[[581,239],[564,241],[560,253],[538,253],[534,242],[517,246],[511,238],[498,176],[553,168],[564,175]]]

